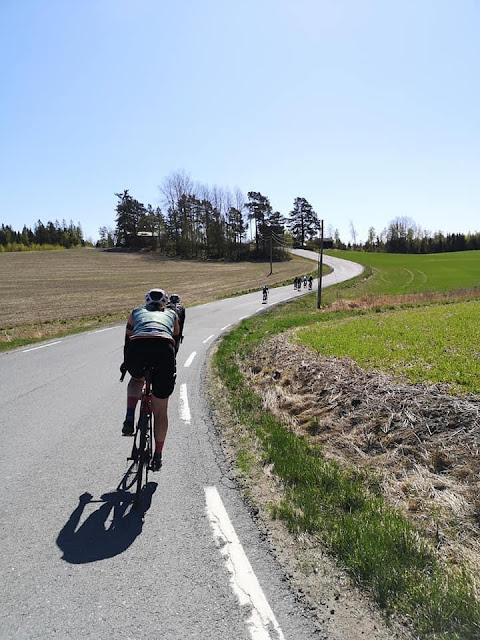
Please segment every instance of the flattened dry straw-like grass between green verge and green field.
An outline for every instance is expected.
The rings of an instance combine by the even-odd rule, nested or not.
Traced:
[[[349,359],[325,358],[285,334],[244,371],[266,408],[322,444],[340,465],[368,471],[372,490],[450,559],[480,569],[480,398],[397,384]]]

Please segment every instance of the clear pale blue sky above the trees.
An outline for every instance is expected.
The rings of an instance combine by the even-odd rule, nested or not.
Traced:
[[[96,239],[184,170],[341,238],[480,231],[477,0],[0,0],[0,222]]]

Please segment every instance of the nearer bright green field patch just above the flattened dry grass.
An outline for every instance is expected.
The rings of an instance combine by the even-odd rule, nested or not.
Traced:
[[[297,338],[322,355],[349,357],[365,369],[480,393],[478,300],[332,319]]]

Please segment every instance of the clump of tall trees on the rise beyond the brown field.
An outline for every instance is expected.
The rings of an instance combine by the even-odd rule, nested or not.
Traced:
[[[202,259],[285,259],[305,246],[320,221],[305,198],[295,198],[286,218],[267,196],[195,184],[184,172],[160,186],[161,207],[144,205],[128,190],[116,193],[116,228],[99,229],[103,247],[151,247],[165,255]]]

